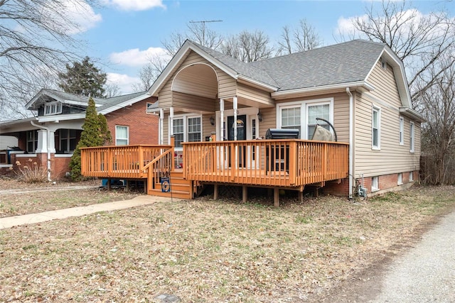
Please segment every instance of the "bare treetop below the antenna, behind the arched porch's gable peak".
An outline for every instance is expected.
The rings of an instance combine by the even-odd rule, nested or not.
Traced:
[[[168,55],[173,57],[183,43],[189,39],[207,48],[216,50],[223,43],[223,37],[208,28],[205,23],[220,22],[216,21],[190,21],[187,25],[186,33],[171,33],[170,38],[161,41]]]

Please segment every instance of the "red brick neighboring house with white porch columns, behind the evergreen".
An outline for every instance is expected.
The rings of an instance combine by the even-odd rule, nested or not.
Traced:
[[[65,177],[82,133],[88,99],[42,89],[26,104],[26,109],[38,112],[37,117],[0,123],[1,135],[18,139],[17,146],[0,152],[5,154],[0,158],[0,174],[11,174],[9,167],[14,167],[16,160],[24,165],[31,159],[43,166],[49,162],[51,179]],[[107,119],[112,145],[158,143],[158,117],[146,112],[157,105],[155,97],[139,92],[94,100],[97,112]]]

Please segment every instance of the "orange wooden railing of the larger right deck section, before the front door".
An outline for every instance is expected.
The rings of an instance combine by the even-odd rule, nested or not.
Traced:
[[[348,177],[348,143],[306,140],[183,143],[183,177],[299,187]]]

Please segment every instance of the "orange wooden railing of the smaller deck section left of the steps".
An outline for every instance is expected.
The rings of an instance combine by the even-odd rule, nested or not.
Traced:
[[[81,148],[81,173],[86,177],[142,179],[144,167],[171,145],[122,145]]]

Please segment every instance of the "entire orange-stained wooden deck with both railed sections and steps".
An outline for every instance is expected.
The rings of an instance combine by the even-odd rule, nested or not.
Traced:
[[[187,183],[180,185],[189,187],[181,197],[192,198],[194,184],[204,183],[302,191],[307,184],[348,177],[348,153],[347,143],[325,141],[213,141],[183,143],[183,156],[177,161],[173,145],[102,146],[81,148],[81,172],[87,177],[144,180],[148,194],[159,194],[161,178],[176,174],[178,162],[183,168],[177,178]]]

